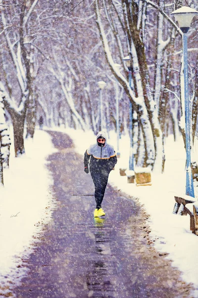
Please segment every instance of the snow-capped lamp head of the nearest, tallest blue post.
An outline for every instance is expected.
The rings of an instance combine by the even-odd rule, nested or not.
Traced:
[[[187,33],[191,27],[192,19],[195,15],[198,15],[198,11],[188,6],[180,7],[171,14],[176,18],[179,23],[179,27],[183,33]]]

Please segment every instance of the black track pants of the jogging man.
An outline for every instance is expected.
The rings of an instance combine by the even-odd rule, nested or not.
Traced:
[[[108,174],[106,173],[106,175],[104,175],[101,174],[101,172],[93,171],[90,171],[90,173],[95,185],[95,199],[97,208],[101,208],[101,203],[104,197],[104,192],[108,181]]]

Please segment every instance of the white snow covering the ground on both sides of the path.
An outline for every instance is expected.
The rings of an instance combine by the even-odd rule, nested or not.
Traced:
[[[61,131],[70,135],[76,151],[82,155],[89,145],[96,142],[91,131]],[[116,149],[114,132],[110,133],[108,143]],[[126,176],[119,175],[120,167],[128,167],[129,144],[129,137],[123,136],[119,144],[121,158],[115,170],[111,171],[109,182],[140,199],[150,215],[149,235],[155,240],[155,248],[169,253],[167,258],[173,260],[172,266],[178,267],[183,272],[183,279],[198,289],[198,236],[190,231],[189,216],[172,214],[174,195],[185,195],[186,154],[182,138],[177,143],[173,142],[172,137],[166,140],[165,173],[152,175],[152,186],[137,187],[128,184]],[[9,292],[6,286],[10,286],[10,281],[14,284],[20,282],[25,274],[23,267],[20,268],[21,258],[28,258],[33,252],[33,243],[55,208],[50,192],[53,180],[46,160],[49,154],[56,151],[51,138],[44,131],[36,130],[34,140],[25,141],[25,150],[24,156],[15,158],[11,146],[10,168],[4,171],[4,188],[0,188],[0,294]],[[195,154],[198,160],[198,140]],[[198,196],[198,186],[195,187],[195,194]],[[198,291],[193,297],[198,298]]]

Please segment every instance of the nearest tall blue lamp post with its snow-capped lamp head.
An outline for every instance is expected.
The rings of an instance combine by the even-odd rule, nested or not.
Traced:
[[[171,14],[176,18],[183,35],[183,59],[184,59],[184,99],[185,99],[185,131],[186,131],[186,195],[195,197],[193,186],[193,175],[191,170],[191,113],[188,91],[188,37],[187,32],[191,26],[191,21],[195,15],[198,15],[196,9],[183,6]]]

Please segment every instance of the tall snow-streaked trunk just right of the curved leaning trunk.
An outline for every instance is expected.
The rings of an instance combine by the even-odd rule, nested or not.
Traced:
[[[132,61],[132,70],[135,74],[136,85],[138,96],[144,98],[144,103],[148,112],[148,119],[150,122],[150,127],[153,137],[154,145],[154,162],[151,161],[151,168],[155,172],[162,172],[163,167],[163,134],[158,121],[157,109],[155,107],[155,102],[153,98],[149,95],[149,75],[148,75],[148,65],[147,57],[145,51],[145,45],[141,36],[141,32],[138,28],[138,22],[134,15],[136,13],[136,3],[133,2],[132,8],[130,0],[123,0],[125,3],[125,9],[123,13],[125,14],[125,27],[128,27],[127,36],[128,43],[130,45],[130,57]],[[124,6],[123,6],[124,7]],[[137,112],[138,113],[138,112]],[[144,140],[146,140],[146,135],[144,134],[144,127],[142,125],[142,132]],[[149,148],[150,149],[150,148]],[[147,152],[148,149],[146,149]],[[149,158],[147,161],[149,165]]]

